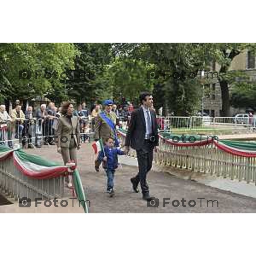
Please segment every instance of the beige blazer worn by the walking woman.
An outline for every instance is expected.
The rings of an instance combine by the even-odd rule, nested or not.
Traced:
[[[56,131],[56,138],[57,146],[62,148],[73,148],[80,146],[80,123],[77,116],[73,116],[71,118],[72,126],[70,124],[70,120],[66,116],[61,116],[58,118],[58,124],[57,124],[57,131]],[[73,134],[74,138],[71,138],[72,134],[72,128],[73,128]],[[64,136],[67,137],[64,138]],[[63,137],[61,142],[61,137]],[[67,142],[65,143],[65,141]]]

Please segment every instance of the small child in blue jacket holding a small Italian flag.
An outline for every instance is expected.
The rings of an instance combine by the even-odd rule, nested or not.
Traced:
[[[125,152],[114,148],[114,140],[112,138],[108,138],[106,141],[106,145],[104,150],[99,153],[99,160],[103,160],[103,168],[106,171],[108,182],[107,182],[107,192],[112,197],[115,195],[114,192],[114,174],[116,168],[118,167],[118,158],[117,155],[124,155]]]

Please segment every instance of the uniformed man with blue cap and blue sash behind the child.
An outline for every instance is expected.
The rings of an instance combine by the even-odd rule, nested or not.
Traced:
[[[103,102],[104,111],[99,113],[98,116],[95,118],[95,134],[94,140],[97,141],[102,139],[102,142],[105,144],[106,140],[109,137],[114,138],[115,146],[119,146],[119,142],[116,136],[116,114],[112,111],[113,101],[111,99],[106,99]],[[99,157],[95,160],[95,170],[99,172],[99,166],[101,161]]]

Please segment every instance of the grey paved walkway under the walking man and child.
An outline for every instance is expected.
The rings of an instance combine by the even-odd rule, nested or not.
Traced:
[[[34,150],[27,150],[33,154],[39,154],[48,158],[49,160],[55,160],[62,162],[61,155],[56,152],[55,146],[44,146],[43,148],[36,148]],[[116,171],[115,188],[116,197],[109,198],[105,193],[105,172],[101,169],[100,172],[96,172],[93,168],[94,155],[91,150],[90,144],[83,144],[78,154],[79,172],[81,180],[84,186],[84,191],[87,195],[87,199],[90,200],[91,213],[93,212],[145,212],[145,213],[160,213],[160,212],[227,212],[227,213],[239,213],[239,212],[256,212],[256,199],[238,195],[232,192],[227,192],[218,188],[205,186],[204,184],[197,183],[191,180],[183,180],[175,177],[166,172],[162,172],[164,168],[161,166],[154,166],[153,171],[148,175],[148,185],[150,187],[151,195],[159,198],[158,208],[148,208],[145,201],[141,199],[140,193],[134,193],[131,189],[130,178],[137,173],[137,166],[134,160],[129,158],[123,158],[122,169]],[[165,167],[166,168],[166,167]],[[69,194],[72,197],[71,193]],[[163,198],[170,198],[167,200],[170,204],[166,204],[163,207]],[[182,198],[186,200],[182,206]],[[200,199],[202,204],[200,207]],[[179,207],[173,207],[172,201],[180,201]],[[188,201],[195,200],[195,207],[189,207]],[[207,200],[218,200],[214,203],[209,202],[207,207]],[[177,204],[177,202],[175,202]],[[190,202],[191,206],[193,202]],[[9,207],[9,208],[8,208]],[[0,206],[0,212],[82,212],[81,209],[74,207],[67,208],[55,208],[49,207],[47,209],[41,208],[35,209],[21,209],[17,205],[12,206]]]

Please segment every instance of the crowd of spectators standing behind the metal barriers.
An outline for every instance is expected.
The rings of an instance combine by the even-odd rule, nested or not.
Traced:
[[[128,102],[126,105],[113,105],[113,112],[116,113],[116,125],[126,128],[134,110],[133,105]],[[95,104],[89,110],[85,102],[78,105],[73,112],[79,117],[81,128],[81,140],[86,140],[86,134],[94,131],[95,118],[102,111],[101,104]],[[55,106],[54,102],[48,105],[42,104],[36,109],[31,105],[22,108],[20,101],[15,101],[15,107],[9,111],[5,105],[0,105],[0,144],[13,148],[13,143],[20,143],[23,148],[41,147],[43,144],[54,145],[51,137],[55,136],[58,118],[61,116],[61,107]],[[35,141],[35,136],[41,138]]]

